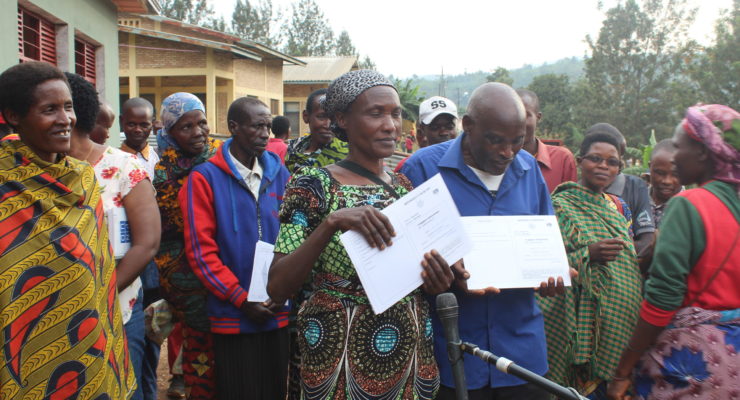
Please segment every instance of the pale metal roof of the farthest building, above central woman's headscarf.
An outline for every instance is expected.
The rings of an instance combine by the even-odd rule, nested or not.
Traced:
[[[329,83],[342,74],[357,69],[357,57],[297,57],[305,66],[283,67],[285,83]]]

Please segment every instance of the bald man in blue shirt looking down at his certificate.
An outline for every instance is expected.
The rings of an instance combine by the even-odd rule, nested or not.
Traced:
[[[420,149],[404,164],[401,173],[414,186],[440,173],[463,216],[551,215],[549,191],[537,161],[526,151],[519,151],[524,143],[525,121],[524,105],[512,88],[501,83],[484,84],[471,95],[462,120],[463,134]],[[469,273],[459,264],[453,269],[461,339],[544,375],[547,349],[535,291],[468,291],[465,280]],[[562,280],[558,279],[556,288],[555,280],[550,278],[542,288],[542,294],[562,291]],[[453,400],[454,381],[444,330],[436,315],[432,323],[434,353],[442,381],[437,398]],[[473,357],[465,357],[465,375],[471,400],[549,397],[541,389]]]

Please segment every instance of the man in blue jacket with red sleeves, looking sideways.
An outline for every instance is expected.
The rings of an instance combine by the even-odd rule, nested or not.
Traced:
[[[288,307],[247,300],[257,241],[277,238],[288,170],[265,151],[270,110],[239,98],[228,111],[232,138],[193,170],[180,191],[185,252],[209,291],[218,398],[285,397]]]

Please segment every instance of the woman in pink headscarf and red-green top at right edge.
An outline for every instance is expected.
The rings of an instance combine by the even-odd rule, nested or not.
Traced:
[[[661,222],[645,300],[609,385],[624,399],[740,393],[740,113],[697,105],[673,135],[681,183]]]

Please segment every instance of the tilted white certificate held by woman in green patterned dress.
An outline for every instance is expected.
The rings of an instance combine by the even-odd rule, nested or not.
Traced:
[[[422,284],[424,253],[437,250],[449,265],[472,248],[442,176],[428,181],[382,210],[393,225],[393,245],[380,251],[355,231],[340,236],[376,314]]]

